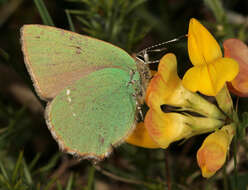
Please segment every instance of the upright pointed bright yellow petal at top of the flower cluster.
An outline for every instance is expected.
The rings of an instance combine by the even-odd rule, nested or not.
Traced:
[[[221,58],[219,44],[211,33],[196,19],[190,19],[188,52],[193,65],[207,64]]]

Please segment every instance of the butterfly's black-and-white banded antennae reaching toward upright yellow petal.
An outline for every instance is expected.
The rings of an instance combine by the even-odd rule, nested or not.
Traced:
[[[187,34],[179,36],[177,38],[174,38],[172,40],[166,41],[166,42],[162,42],[153,46],[149,46],[143,50],[141,50],[139,53],[137,53],[136,55],[136,59],[142,61],[144,64],[153,64],[153,63],[158,63],[159,60],[154,60],[154,61],[150,61],[149,60],[149,53],[151,52],[162,52],[165,50],[168,50],[168,47],[166,47],[168,44],[173,44],[173,43],[177,43],[181,40],[184,40],[188,37]]]

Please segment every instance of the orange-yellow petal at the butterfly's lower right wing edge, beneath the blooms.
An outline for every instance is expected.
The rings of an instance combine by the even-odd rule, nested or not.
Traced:
[[[126,139],[126,142],[144,148],[160,148],[148,134],[143,122],[137,124],[133,133]]]

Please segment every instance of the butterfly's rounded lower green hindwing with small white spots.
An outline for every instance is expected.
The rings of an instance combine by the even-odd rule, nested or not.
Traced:
[[[103,159],[132,131],[135,93],[129,73],[102,69],[66,87],[47,106],[48,126],[63,151]]]

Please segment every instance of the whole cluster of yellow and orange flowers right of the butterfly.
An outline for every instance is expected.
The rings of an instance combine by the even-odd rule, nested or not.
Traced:
[[[230,39],[224,42],[224,49],[223,57],[209,31],[191,19],[188,53],[193,67],[181,80],[174,54],[168,53],[160,60],[146,91],[149,110],[126,142],[145,148],[167,148],[175,141],[212,132],[198,150],[197,161],[203,177],[214,175],[225,163],[237,126],[226,82],[237,95],[248,95],[248,79],[244,77],[248,72],[247,46]],[[218,107],[196,92],[215,97]]]

